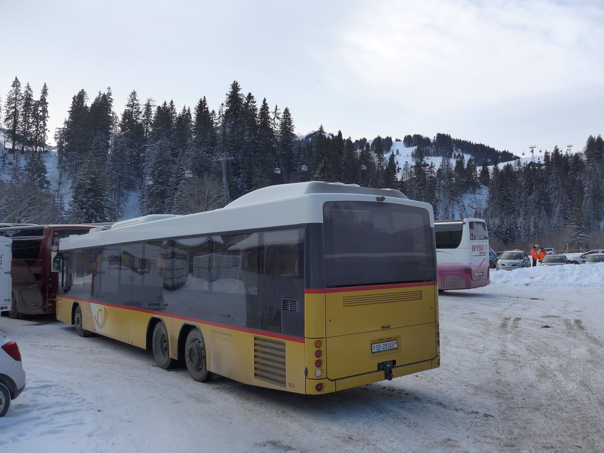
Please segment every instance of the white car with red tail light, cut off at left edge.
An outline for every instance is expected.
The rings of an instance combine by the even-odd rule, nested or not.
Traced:
[[[25,371],[19,346],[0,332],[0,417],[7,413],[10,400],[18,397],[24,388]]]

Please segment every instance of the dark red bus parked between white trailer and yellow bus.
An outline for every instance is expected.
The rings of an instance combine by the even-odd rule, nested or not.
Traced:
[[[40,315],[56,312],[58,272],[53,259],[59,239],[86,234],[94,225],[13,225],[0,228],[0,236],[13,240],[11,274],[13,290],[8,316]]]

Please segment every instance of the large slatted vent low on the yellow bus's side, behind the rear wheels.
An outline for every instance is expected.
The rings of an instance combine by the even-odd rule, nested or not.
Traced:
[[[285,342],[254,336],[254,377],[285,387]]]

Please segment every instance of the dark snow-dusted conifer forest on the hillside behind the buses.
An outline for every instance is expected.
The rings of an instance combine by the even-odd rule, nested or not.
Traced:
[[[600,135],[588,137],[581,153],[554,147],[528,164],[445,133],[406,135],[413,162],[399,167],[390,136],[353,140],[320,126],[297,137],[287,107],[271,107],[266,98],[259,103],[236,81],[217,111],[205,97],[192,110],[177,109],[173,101],[142,101],[132,91],[118,115],[111,89],[90,103],[80,90],[53,135],[59,176],[51,184],[43,159],[47,85],[34,97],[15,77],[0,105],[0,167],[9,175],[0,181],[0,222],[112,222],[132,191],[140,192],[143,215],[188,214],[266,185],[311,180],[396,188],[431,203],[437,219],[483,217],[491,236],[505,244],[565,231],[565,240],[585,248],[604,220]],[[439,167],[428,156],[442,157]],[[485,207],[462,204],[479,188],[488,191]]]

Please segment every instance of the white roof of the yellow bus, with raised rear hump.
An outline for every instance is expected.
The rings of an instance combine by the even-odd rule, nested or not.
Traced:
[[[117,243],[150,242],[173,237],[207,236],[230,231],[323,223],[323,204],[327,201],[388,201],[411,205],[427,209],[431,222],[434,222],[431,205],[409,200],[398,190],[319,181],[297,182],[252,191],[226,207],[213,211],[142,223],[133,219],[130,225],[120,228],[70,236],[60,240],[59,248],[71,250]]]

